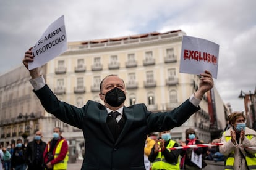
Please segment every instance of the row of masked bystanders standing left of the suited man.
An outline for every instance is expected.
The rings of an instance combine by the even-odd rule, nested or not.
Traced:
[[[22,139],[15,147],[8,145],[0,149],[0,170],[51,170],[67,169],[69,150],[61,129],[54,128],[53,138],[46,144],[42,132],[36,131],[34,139],[25,146]]]

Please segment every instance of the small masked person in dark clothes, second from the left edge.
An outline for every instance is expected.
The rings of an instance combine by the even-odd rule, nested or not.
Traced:
[[[16,147],[12,153],[11,169],[25,170],[27,168],[27,164],[25,163],[25,150],[26,147],[22,144],[22,139],[17,139]]]

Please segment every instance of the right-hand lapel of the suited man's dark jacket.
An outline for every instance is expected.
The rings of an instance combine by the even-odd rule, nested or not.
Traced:
[[[129,131],[130,126],[132,126],[132,122],[134,121],[134,111],[130,108],[124,107],[124,116],[126,116],[126,123],[124,124],[124,128],[122,129],[121,134],[116,140],[116,144],[120,142],[120,140],[126,136],[127,131]]]

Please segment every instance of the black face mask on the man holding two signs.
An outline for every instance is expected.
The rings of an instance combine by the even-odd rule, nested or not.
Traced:
[[[124,103],[124,100],[126,100],[126,94],[124,94],[124,91],[117,87],[114,87],[114,89],[111,89],[103,95],[105,95],[106,103],[108,103],[112,107],[118,107],[119,105]]]

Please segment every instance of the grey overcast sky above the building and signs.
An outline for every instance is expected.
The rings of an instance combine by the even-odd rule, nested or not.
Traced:
[[[254,0],[0,0],[0,75],[18,67],[28,47],[61,15],[67,41],[181,29],[220,45],[215,86],[224,103],[241,111],[240,91],[256,87],[255,7]]]

